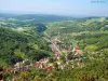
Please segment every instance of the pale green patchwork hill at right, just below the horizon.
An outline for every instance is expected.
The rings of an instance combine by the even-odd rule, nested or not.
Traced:
[[[85,17],[48,24],[50,33],[71,33],[81,31],[108,30],[107,17]]]

